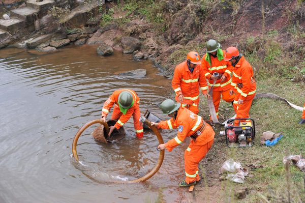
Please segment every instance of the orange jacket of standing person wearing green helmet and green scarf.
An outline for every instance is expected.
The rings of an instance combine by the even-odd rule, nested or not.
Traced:
[[[225,55],[225,50],[222,50],[223,54]],[[205,60],[206,54],[202,57],[201,60],[201,66],[203,69],[204,76],[206,79],[208,79],[208,85],[209,87],[213,85],[214,80],[210,80],[210,77],[213,73],[218,72],[219,74],[223,74],[227,77],[225,81],[220,82],[221,79],[216,80],[216,83],[213,87],[213,91],[219,92],[219,91],[226,91],[230,89],[230,83],[231,83],[231,73],[233,71],[233,66],[229,61],[221,60],[219,61],[217,57],[211,56],[211,65],[210,67],[209,63]]]

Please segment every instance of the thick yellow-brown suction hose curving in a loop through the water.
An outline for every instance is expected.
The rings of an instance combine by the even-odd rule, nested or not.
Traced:
[[[155,132],[155,134],[158,137],[159,140],[159,144],[163,144],[163,138],[162,135],[160,134],[158,128],[156,128],[155,126],[151,126],[151,123],[145,118],[145,117],[141,117],[140,118],[140,122],[146,124],[151,130],[153,130]],[[77,152],[76,152],[76,145],[77,145],[77,140],[79,138],[79,136],[81,135],[81,133],[88,128],[89,126],[96,124],[96,123],[100,123],[102,125],[104,125],[105,129],[106,129],[106,133],[109,133],[109,127],[107,125],[107,123],[105,123],[103,120],[101,119],[96,119],[93,121],[89,121],[88,123],[86,123],[83,127],[81,127],[81,129],[79,129],[79,131],[76,133],[74,140],[73,140],[73,144],[72,144],[72,152],[73,152],[73,157],[79,161],[78,156],[77,156]],[[157,162],[157,165],[155,166],[155,168],[153,168],[153,170],[151,170],[149,173],[147,173],[145,176],[143,176],[142,178],[133,180],[133,181],[112,181],[113,183],[138,183],[138,182],[144,182],[148,179],[150,179],[151,177],[153,177],[155,175],[156,172],[158,172],[158,170],[160,169],[163,159],[164,159],[164,152],[165,150],[162,150],[160,152],[159,155],[159,160]]]

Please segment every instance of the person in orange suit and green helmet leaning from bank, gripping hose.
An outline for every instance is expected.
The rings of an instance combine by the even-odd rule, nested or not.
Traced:
[[[212,127],[206,124],[202,117],[193,113],[180,103],[167,99],[161,104],[162,114],[168,114],[171,120],[160,123],[151,122],[151,125],[162,129],[178,128],[178,135],[165,144],[160,144],[158,149],[165,148],[171,152],[173,148],[182,143],[186,137],[192,137],[188,149],[185,151],[185,172],[186,179],[179,183],[185,187],[195,185],[199,180],[198,164],[211,149],[214,142],[215,132]]]

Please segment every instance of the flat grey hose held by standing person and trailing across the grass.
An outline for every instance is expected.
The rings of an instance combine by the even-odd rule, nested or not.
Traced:
[[[214,81],[214,84],[216,83],[216,81]],[[211,96],[211,99],[208,99],[208,108],[211,114],[211,118],[214,124],[218,124],[218,125],[225,125],[229,120],[225,121],[224,123],[220,123],[217,119],[217,115],[216,115],[216,111],[215,111],[215,107],[214,107],[214,103],[213,103],[213,86],[214,84],[211,86],[210,90],[208,91],[208,94]],[[294,105],[292,103],[290,103],[287,99],[283,98],[283,97],[279,97],[275,94],[272,93],[259,93],[256,94],[254,99],[258,99],[258,98],[272,98],[272,99],[280,99],[282,101],[287,102],[292,108],[295,108],[297,110],[303,111],[303,107]],[[231,119],[235,119],[236,118],[236,114],[234,115],[234,117],[232,117]]]

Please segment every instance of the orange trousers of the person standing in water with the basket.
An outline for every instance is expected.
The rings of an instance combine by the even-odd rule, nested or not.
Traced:
[[[123,113],[120,112],[119,107],[117,107],[115,105],[113,108],[111,119],[118,120],[121,115],[123,115]],[[134,119],[134,127],[136,130],[136,135],[138,137],[143,137],[143,125],[142,125],[142,123],[140,123],[141,112],[140,112],[139,105],[136,106],[136,108],[132,114],[132,117]]]

